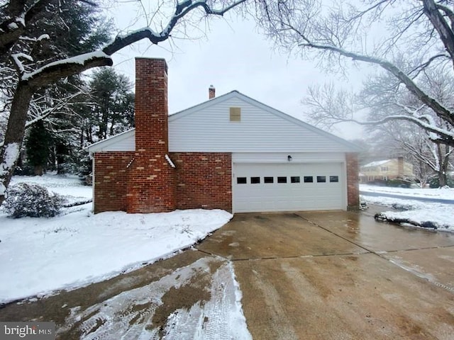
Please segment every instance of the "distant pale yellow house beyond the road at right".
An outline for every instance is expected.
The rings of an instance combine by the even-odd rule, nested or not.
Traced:
[[[413,165],[404,162],[404,157],[370,162],[360,167],[361,183],[412,178],[414,178]]]

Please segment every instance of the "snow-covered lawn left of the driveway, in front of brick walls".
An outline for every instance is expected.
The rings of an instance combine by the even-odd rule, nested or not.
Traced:
[[[16,177],[40,183],[72,201],[92,188],[77,178]],[[92,204],[65,208],[52,218],[11,219],[0,212],[0,303],[106,280],[187,248],[226,224],[223,210],[159,214],[102,212]]]

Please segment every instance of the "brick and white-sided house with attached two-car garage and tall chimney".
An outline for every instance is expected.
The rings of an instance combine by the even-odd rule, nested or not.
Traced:
[[[135,73],[135,129],[87,147],[94,212],[358,208],[357,146],[238,91],[168,115],[165,60]]]

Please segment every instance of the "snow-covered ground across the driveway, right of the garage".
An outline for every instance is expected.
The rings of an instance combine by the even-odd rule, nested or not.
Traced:
[[[424,197],[454,200],[454,188],[411,189],[361,185],[360,191],[395,194],[407,197],[402,199],[384,196],[361,196],[362,200],[370,204],[385,205],[404,210],[384,210],[382,216],[388,220],[407,219],[414,225],[427,225],[429,222],[438,230],[454,232],[453,204],[429,203],[412,199],[414,197]]]

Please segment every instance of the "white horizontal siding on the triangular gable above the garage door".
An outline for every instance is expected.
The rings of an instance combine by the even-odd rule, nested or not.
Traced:
[[[170,116],[170,152],[352,151],[345,141],[238,92],[223,97]],[[240,122],[231,122],[231,107],[241,108]]]

